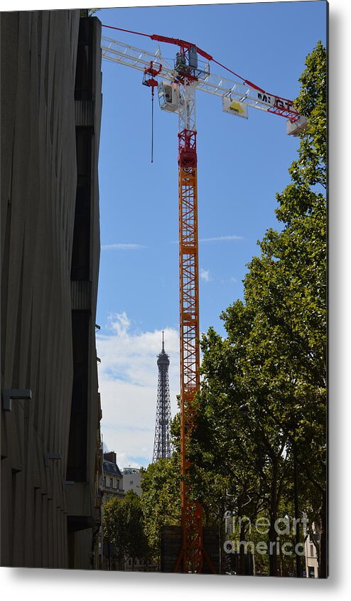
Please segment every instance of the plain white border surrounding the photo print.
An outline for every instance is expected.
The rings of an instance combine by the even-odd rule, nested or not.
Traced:
[[[279,1],[279,0],[271,0]],[[309,1],[309,0],[300,0]],[[172,4],[215,4],[202,1],[166,0],[118,1],[93,3],[101,8],[116,6],[169,6]],[[235,4],[220,2],[217,4]],[[237,0],[237,4],[243,4]],[[248,4],[248,3],[247,3]],[[134,598],[164,601],[192,598],[201,600],[240,599],[271,600],[318,600],[336,596],[348,599],[350,592],[350,294],[347,284],[350,275],[351,151],[350,119],[347,112],[350,95],[350,3],[330,0],[330,187],[329,187],[329,408],[330,408],[330,578],[328,580],[296,580],[280,578],[225,578],[216,576],[183,576],[167,574],[83,572],[80,570],[35,570],[25,568],[1,568],[1,592],[11,597],[36,597],[36,599]],[[1,11],[75,9],[86,8],[85,2],[77,1],[16,1],[1,2]],[[296,25],[298,27],[298,24]],[[349,587],[350,588],[350,587]],[[348,593],[348,594],[347,594]]]

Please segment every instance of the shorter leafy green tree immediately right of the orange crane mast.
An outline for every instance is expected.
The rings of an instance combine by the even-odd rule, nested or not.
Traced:
[[[289,469],[286,434],[265,413],[264,404],[250,404],[243,349],[250,334],[249,314],[237,314],[235,342],[222,340],[210,329],[202,339],[200,415],[193,437],[193,479],[205,511],[217,506],[220,514],[232,511],[254,522],[261,511],[269,516],[269,541],[276,541],[274,522],[279,517],[281,495]],[[239,334],[240,332],[240,334]],[[248,523],[249,523],[248,522]],[[241,522],[240,540],[247,536]],[[241,549],[242,551],[242,549]],[[239,570],[243,573],[244,557]],[[276,575],[276,555],[270,556],[270,573]]]

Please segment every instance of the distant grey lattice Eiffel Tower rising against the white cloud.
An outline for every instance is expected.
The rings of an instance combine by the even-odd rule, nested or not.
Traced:
[[[169,395],[169,356],[165,351],[162,332],[162,351],[157,358],[158,385],[155,441],[153,442],[153,462],[171,457],[171,399]]]

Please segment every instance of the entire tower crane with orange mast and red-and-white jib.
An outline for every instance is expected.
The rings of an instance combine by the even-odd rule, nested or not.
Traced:
[[[158,48],[150,53],[124,42],[102,36],[102,58],[143,73],[144,85],[151,87],[153,103],[157,88],[162,110],[178,114],[178,211],[179,211],[179,299],[180,299],[180,480],[182,547],[174,571],[201,573],[204,561],[215,569],[203,546],[202,509],[193,499],[188,483],[188,445],[195,427],[196,394],[200,389],[200,329],[198,284],[198,192],[195,92],[201,90],[222,98],[222,109],[238,117],[248,117],[248,107],[287,119],[287,133],[300,135],[307,127],[291,100],[269,94],[218,63],[193,43],[166,36],[104,26],[134,33],[154,41],[178,46],[171,65]],[[200,57],[200,58],[199,58]],[[205,59],[205,60],[202,60]],[[240,81],[210,73],[217,63]],[[153,107],[153,104],[152,104]],[[153,110],[152,110],[153,115]],[[153,117],[152,117],[153,118]],[[153,142],[151,142],[151,161]]]

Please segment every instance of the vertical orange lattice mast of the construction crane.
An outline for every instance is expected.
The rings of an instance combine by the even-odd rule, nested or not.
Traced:
[[[183,78],[178,111],[179,321],[180,321],[180,498],[182,548],[174,570],[202,571],[202,511],[188,483],[188,442],[200,388],[198,279],[198,156],[195,83]]]

